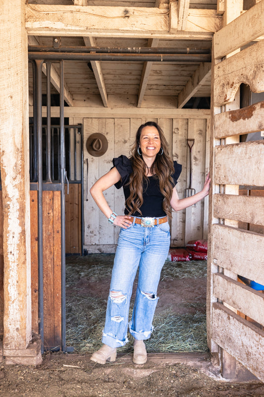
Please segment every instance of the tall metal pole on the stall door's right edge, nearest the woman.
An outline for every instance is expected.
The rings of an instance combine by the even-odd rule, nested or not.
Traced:
[[[59,64],[59,125],[60,125],[60,183],[61,183],[61,350],[66,349],[66,302],[65,302],[65,145],[64,145],[64,63]]]

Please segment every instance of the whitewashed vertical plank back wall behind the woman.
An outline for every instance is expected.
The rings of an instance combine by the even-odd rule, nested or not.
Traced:
[[[113,228],[107,223],[90,196],[89,189],[111,168],[113,157],[129,156],[138,127],[151,120],[158,122],[161,126],[169,144],[171,157],[183,166],[177,184],[179,196],[183,197],[184,189],[189,186],[187,138],[195,139],[192,149],[193,187],[196,191],[203,187],[209,161],[207,118],[84,118],[84,167],[87,166],[88,159],[88,181],[86,180],[87,172],[84,169],[84,248],[88,252],[114,252],[119,232],[119,228]],[[108,141],[106,154],[99,158],[89,155],[85,147],[87,138],[95,132],[104,134]],[[116,213],[122,214],[124,211],[123,190],[112,187],[105,192],[105,195],[110,207]],[[173,213],[171,245],[184,246],[190,239],[207,238],[207,219],[208,214],[204,210],[203,202],[186,211]]]

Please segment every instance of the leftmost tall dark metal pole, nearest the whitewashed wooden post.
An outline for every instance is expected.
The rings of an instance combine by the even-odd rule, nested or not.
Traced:
[[[44,352],[44,303],[43,303],[43,175],[42,175],[42,65],[43,61],[36,61],[37,66],[37,95],[36,95],[36,127],[38,136],[38,265],[39,265],[39,333],[41,337],[41,351]]]

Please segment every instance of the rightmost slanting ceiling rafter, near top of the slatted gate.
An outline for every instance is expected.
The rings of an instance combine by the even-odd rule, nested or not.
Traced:
[[[211,77],[211,63],[203,62],[188,80],[178,96],[178,108],[182,108],[188,100],[195,95],[205,81]]]

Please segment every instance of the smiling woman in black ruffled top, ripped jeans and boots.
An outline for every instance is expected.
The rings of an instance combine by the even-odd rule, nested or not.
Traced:
[[[125,156],[113,159],[113,168],[90,190],[108,221],[121,228],[107,302],[104,345],[91,357],[100,364],[114,361],[116,348],[128,341],[129,304],[138,267],[138,287],[129,330],[134,337],[134,363],[147,361],[144,340],[150,338],[153,330],[160,271],[170,245],[171,208],[179,211],[197,203],[207,196],[210,187],[208,175],[201,192],[179,199],[175,185],[181,165],[169,158],[168,144],[155,122],[139,127],[131,152],[129,159]],[[103,195],[112,185],[123,186],[124,215],[112,212]]]

